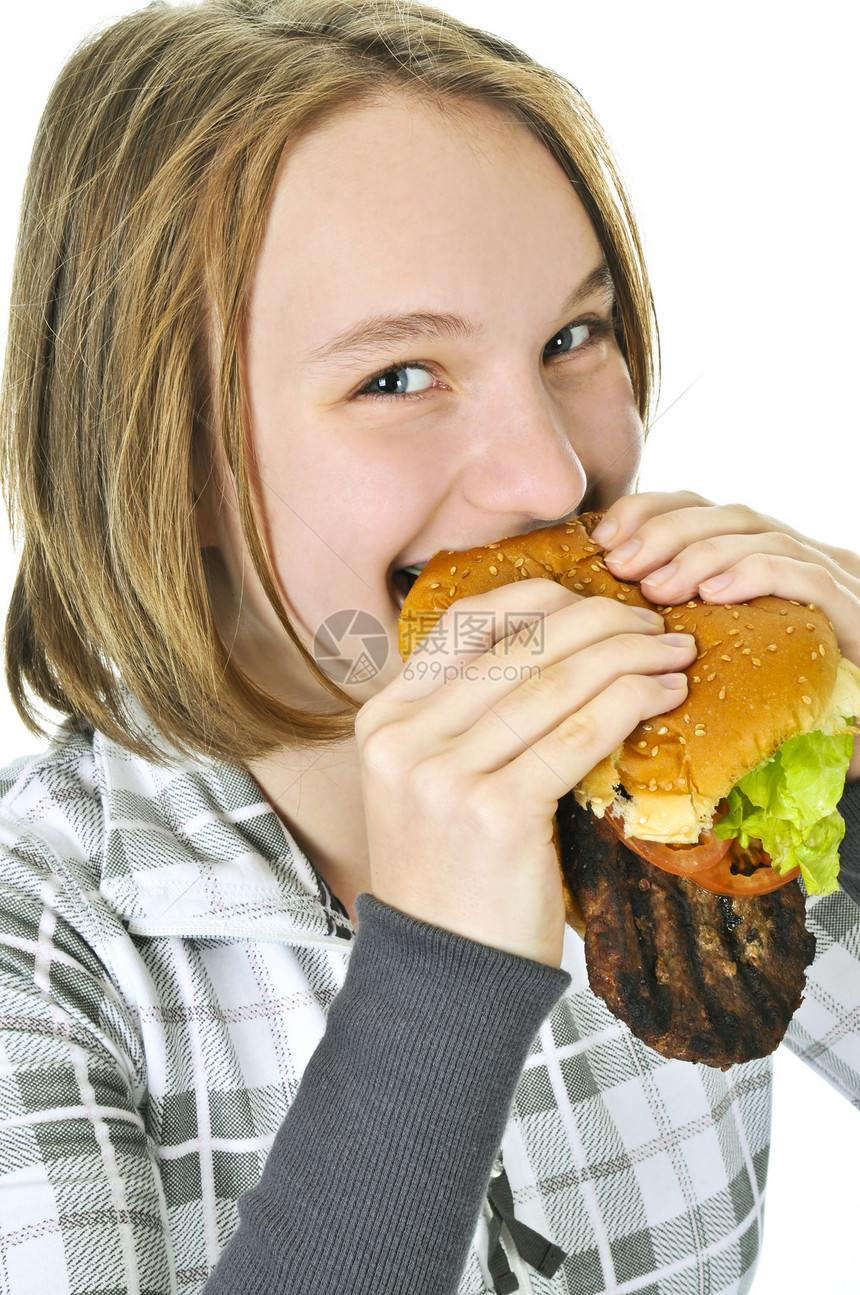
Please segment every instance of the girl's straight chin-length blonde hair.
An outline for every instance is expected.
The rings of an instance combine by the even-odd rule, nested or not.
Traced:
[[[285,149],[381,88],[493,105],[561,163],[604,247],[648,422],[657,330],[642,249],[604,133],[562,76],[407,0],[158,3],[120,19],[61,73],[23,197],[1,417],[22,540],[6,679],[34,732],[40,701],[157,756],[131,695],[190,754],[247,760],[352,733],[357,703],[278,597],[238,347]],[[211,425],[256,574],[337,712],[272,698],[219,637],[194,517]]]

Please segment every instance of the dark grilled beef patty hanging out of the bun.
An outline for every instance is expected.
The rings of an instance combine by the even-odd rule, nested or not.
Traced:
[[[663,1057],[727,1067],[772,1053],[815,956],[797,882],[712,895],[627,850],[572,793],[558,834],[588,980],[609,1010]]]

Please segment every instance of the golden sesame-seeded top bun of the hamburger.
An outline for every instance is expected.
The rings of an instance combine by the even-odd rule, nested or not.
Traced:
[[[614,804],[628,837],[694,842],[745,773],[787,738],[819,726],[837,680],[837,638],[817,607],[784,598],[736,606],[699,598],[679,606],[649,602],[639,585],[607,570],[591,539],[601,515],[585,513],[483,548],[436,553],[403,605],[400,654],[405,660],[456,600],[534,576],[582,596],[655,606],[667,631],[696,638],[686,699],[639,724],[574,790],[598,817]],[[624,796],[617,795],[619,785]]]

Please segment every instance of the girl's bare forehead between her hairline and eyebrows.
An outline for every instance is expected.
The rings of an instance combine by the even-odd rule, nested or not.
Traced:
[[[329,308],[470,310],[500,290],[556,291],[600,260],[561,166],[521,122],[403,95],[352,106],[284,159],[254,299],[303,332],[342,325]],[[421,298],[420,303],[417,297]]]

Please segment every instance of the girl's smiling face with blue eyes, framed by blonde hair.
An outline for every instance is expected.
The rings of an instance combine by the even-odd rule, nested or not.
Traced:
[[[258,500],[303,641],[347,609],[387,635],[357,701],[402,668],[399,569],[632,488],[641,425],[601,267],[561,167],[492,109],[390,96],[286,159],[245,347]],[[229,495],[214,536],[240,662],[332,708],[243,559]]]

